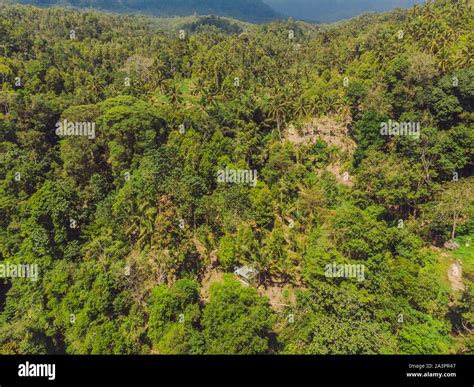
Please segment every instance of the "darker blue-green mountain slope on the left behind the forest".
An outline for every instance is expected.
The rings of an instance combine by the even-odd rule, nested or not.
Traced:
[[[53,5],[92,7],[120,13],[156,16],[219,15],[250,22],[267,22],[282,16],[262,0],[17,0],[40,7]]]

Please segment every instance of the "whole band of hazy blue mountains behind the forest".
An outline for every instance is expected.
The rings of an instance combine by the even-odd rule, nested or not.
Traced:
[[[6,0],[39,7],[69,6],[159,17],[216,15],[252,23],[295,19],[331,23],[367,12],[409,8],[424,0]]]

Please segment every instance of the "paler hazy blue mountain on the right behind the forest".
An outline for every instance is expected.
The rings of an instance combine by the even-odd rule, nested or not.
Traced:
[[[296,19],[333,22],[366,12],[408,8],[424,0],[264,0],[278,12]]]

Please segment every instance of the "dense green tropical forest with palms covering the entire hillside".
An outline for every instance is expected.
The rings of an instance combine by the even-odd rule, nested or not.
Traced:
[[[0,353],[472,353],[473,16],[0,6]]]

